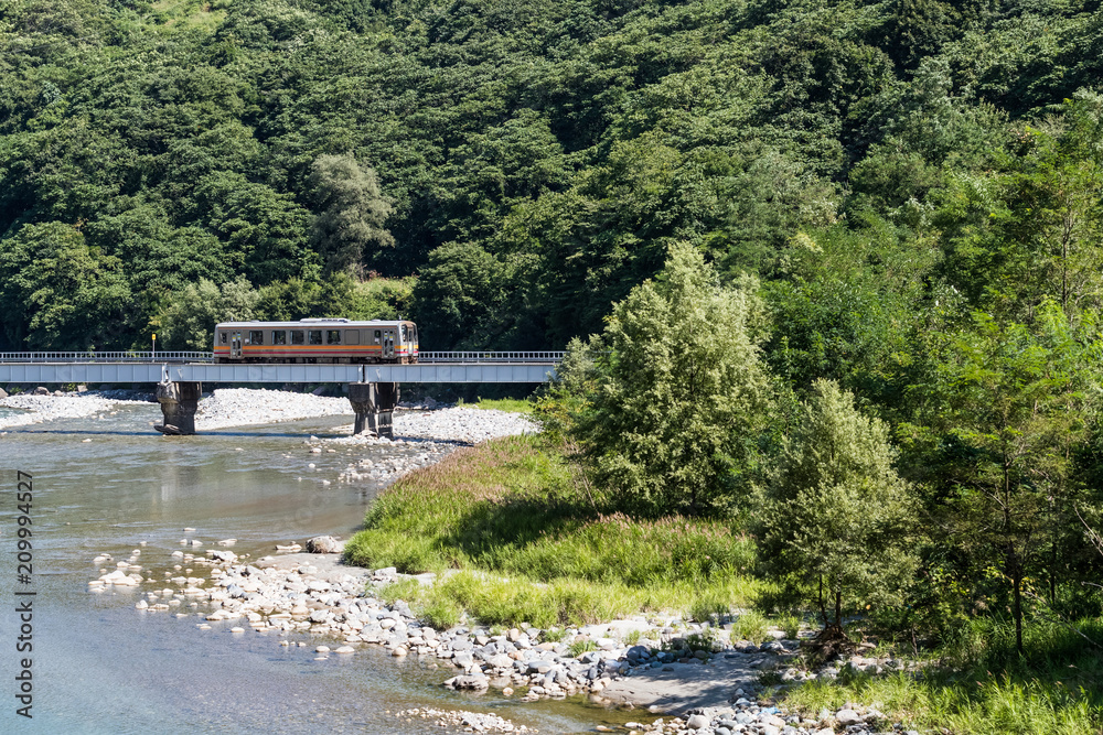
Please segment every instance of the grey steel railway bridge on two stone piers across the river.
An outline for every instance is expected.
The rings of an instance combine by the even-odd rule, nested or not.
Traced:
[[[392,436],[403,382],[544,382],[561,352],[424,352],[413,365],[215,363],[212,353],[0,353],[0,382],[157,383],[167,434],[194,434],[204,382],[340,382],[349,386],[355,432]]]

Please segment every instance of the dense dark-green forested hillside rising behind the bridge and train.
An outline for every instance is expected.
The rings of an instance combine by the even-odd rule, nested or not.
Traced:
[[[0,347],[559,347],[685,241],[763,278],[775,368],[879,390],[920,322],[1096,305],[1096,11],[4,0]]]

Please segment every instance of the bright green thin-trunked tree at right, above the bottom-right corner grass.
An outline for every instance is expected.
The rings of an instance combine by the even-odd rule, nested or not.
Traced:
[[[1031,326],[973,318],[973,328],[932,337],[913,397],[925,425],[903,425],[901,435],[918,451],[912,462],[930,465],[930,501],[962,559],[959,573],[976,599],[994,576],[1003,594],[987,604],[1007,603],[1021,652],[1029,580],[1058,574],[1056,544],[1084,491],[1075,453],[1091,430],[1097,327],[1074,329],[1052,301]]]

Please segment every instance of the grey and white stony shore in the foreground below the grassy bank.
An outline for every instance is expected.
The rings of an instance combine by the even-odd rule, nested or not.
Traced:
[[[188,529],[191,531],[191,529]],[[308,542],[333,549],[331,539]],[[386,604],[379,591],[404,575],[394,569],[361,570],[340,563],[339,553],[290,553],[256,561],[238,558],[232,540],[194,549],[193,539],[169,559],[148,560],[135,549],[125,561],[100,555],[103,576],[92,590],[140,587],[136,607],[146,614],[193,617],[201,630],[268,635],[274,646],[311,646],[318,659],[352,657],[368,646],[395,658],[419,657],[456,669],[445,685],[474,693],[491,688],[522,701],[587,695],[596,703],[647,707],[650,717],[625,729],[699,735],[837,735],[902,733],[877,711],[846,706],[802,718],[763,699],[763,678],[790,681],[826,678],[842,668],[891,669],[887,659],[854,657],[840,664],[805,671],[797,666],[797,641],[771,631],[756,645],[731,640],[730,625],[638,617],[578,628],[539,630],[522,625],[504,630],[461,625],[436,630],[401,601]],[[297,550],[297,547],[289,548]],[[146,575],[146,576],[143,576]],[[431,574],[420,582],[432,582]],[[310,638],[307,638],[310,636]],[[462,713],[461,713],[462,714]],[[663,716],[656,716],[662,714]],[[485,715],[480,715],[485,716]],[[472,717],[441,716],[442,726],[473,729]],[[481,721],[478,721],[481,722]],[[491,721],[486,731],[513,732]],[[612,728],[600,728],[610,732]]]

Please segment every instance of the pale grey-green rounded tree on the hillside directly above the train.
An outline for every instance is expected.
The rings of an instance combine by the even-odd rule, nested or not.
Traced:
[[[384,228],[390,201],[379,191],[373,169],[352,155],[320,155],[310,167],[310,187],[319,212],[310,241],[325,259],[329,272],[350,270],[361,275],[370,248],[393,247],[395,238]]]

